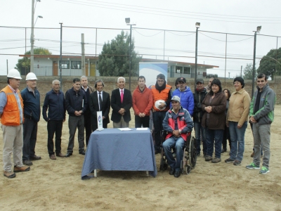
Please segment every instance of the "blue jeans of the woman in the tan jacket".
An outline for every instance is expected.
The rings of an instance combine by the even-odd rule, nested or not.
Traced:
[[[237,127],[238,122],[229,122],[229,132],[231,139],[230,159],[243,160],[244,153],[244,136],[248,122],[244,122],[241,128]]]

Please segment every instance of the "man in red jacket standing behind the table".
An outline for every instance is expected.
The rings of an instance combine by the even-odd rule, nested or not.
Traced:
[[[152,108],[152,92],[145,86],[145,77],[138,77],[138,87],[133,91],[133,111],[135,127],[149,127],[150,110]]]

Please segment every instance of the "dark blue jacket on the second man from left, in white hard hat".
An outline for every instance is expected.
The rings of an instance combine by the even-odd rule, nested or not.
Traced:
[[[34,96],[33,92],[25,87],[20,94],[22,95],[24,115],[28,115],[35,122],[39,122],[41,113],[39,91],[35,89]]]

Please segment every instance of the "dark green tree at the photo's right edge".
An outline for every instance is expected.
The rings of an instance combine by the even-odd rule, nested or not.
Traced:
[[[271,49],[266,56],[261,58],[258,72],[270,76],[272,79],[274,75],[281,75],[281,48]]]

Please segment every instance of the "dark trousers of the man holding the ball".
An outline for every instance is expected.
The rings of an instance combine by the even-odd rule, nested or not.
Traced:
[[[163,120],[165,118],[165,115],[166,111],[155,111],[152,113],[155,136],[155,151],[160,151],[161,131],[163,129]]]

